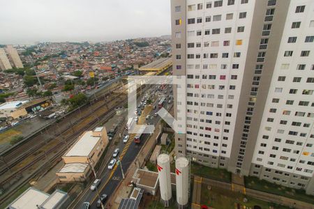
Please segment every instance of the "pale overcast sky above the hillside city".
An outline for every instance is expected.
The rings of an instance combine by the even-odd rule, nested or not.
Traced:
[[[170,35],[170,0],[0,0],[0,44]]]

